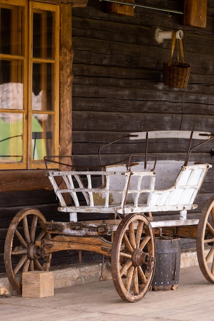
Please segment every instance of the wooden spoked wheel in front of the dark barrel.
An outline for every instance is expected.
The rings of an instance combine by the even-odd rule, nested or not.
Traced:
[[[150,288],[155,263],[155,240],[143,214],[129,214],[119,224],[111,252],[116,291],[128,302],[141,300]]]

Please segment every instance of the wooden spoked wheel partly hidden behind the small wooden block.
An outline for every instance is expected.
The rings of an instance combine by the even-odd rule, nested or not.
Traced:
[[[22,293],[22,273],[48,271],[51,254],[42,257],[36,240],[50,238],[45,229],[46,219],[36,209],[22,209],[13,218],[5,239],[5,269],[12,288]]]

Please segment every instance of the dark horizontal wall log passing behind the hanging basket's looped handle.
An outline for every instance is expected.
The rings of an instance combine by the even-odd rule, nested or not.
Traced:
[[[98,49],[99,48],[99,49]],[[170,50],[160,47],[155,49],[157,57],[152,54],[152,46],[127,45],[124,43],[109,43],[100,39],[73,38],[74,64],[87,61],[87,56],[97,65],[114,66],[122,68],[144,68],[163,70],[163,63],[169,61]],[[203,55],[185,52],[185,61],[193,66],[194,73],[212,74],[212,52]],[[174,60],[176,60],[176,54]]]

